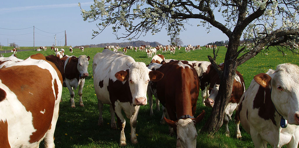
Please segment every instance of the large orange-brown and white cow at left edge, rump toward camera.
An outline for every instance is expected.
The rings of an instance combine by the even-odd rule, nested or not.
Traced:
[[[0,147],[39,147],[44,140],[54,148],[62,94],[57,67],[38,53],[0,73]]]

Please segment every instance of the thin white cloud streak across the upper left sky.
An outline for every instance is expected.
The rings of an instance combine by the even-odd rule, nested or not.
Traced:
[[[80,3],[80,4],[81,4],[81,6],[83,6],[83,5],[90,5],[90,4],[94,4],[94,3],[93,2],[85,2],[85,3]],[[0,8],[0,13],[27,11],[27,10],[54,9],[54,8],[68,8],[68,7],[78,7],[78,3]]]

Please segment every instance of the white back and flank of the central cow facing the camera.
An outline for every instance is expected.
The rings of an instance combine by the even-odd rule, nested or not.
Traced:
[[[128,69],[127,64],[130,62],[135,62],[135,60],[122,52],[104,49],[103,52],[95,54],[92,64],[94,89],[97,98],[101,99],[103,103],[111,104],[107,88],[109,80],[116,81],[115,73]]]

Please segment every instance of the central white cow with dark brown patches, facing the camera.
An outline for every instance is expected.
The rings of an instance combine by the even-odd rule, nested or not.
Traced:
[[[135,62],[131,56],[104,49],[94,56],[94,89],[98,99],[99,125],[103,125],[103,104],[110,105],[111,127],[116,128],[114,112],[120,128],[120,146],[126,145],[124,128],[126,121],[122,111],[130,118],[131,141],[137,143],[135,128],[141,105],[147,104],[147,85],[159,81],[163,74],[147,69],[143,62]]]

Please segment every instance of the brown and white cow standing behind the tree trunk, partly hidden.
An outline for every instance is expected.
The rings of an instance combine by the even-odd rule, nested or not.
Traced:
[[[223,66],[220,66],[220,67],[223,67]],[[220,79],[219,79],[219,76],[215,69],[210,70],[209,75],[211,77],[210,83],[214,87],[211,90],[209,97],[204,101],[204,104],[205,104],[205,106],[213,107],[214,101],[218,95]],[[228,101],[228,105],[225,108],[225,114],[224,114],[224,118],[223,118],[223,122],[225,124],[225,130],[226,130],[225,135],[227,137],[230,136],[230,132],[228,129],[228,121],[229,121],[229,119],[231,119],[231,115],[233,114],[234,110],[238,109],[238,103],[240,101],[240,98],[242,97],[243,93],[245,92],[244,79],[243,79],[243,76],[241,75],[241,73],[239,73],[238,71],[236,71],[232,89],[233,90],[231,93],[231,98]],[[236,114],[236,116],[235,116],[235,124],[236,124],[236,138],[241,138],[242,136],[241,136],[241,132],[239,130],[240,120],[239,120],[238,114]]]

